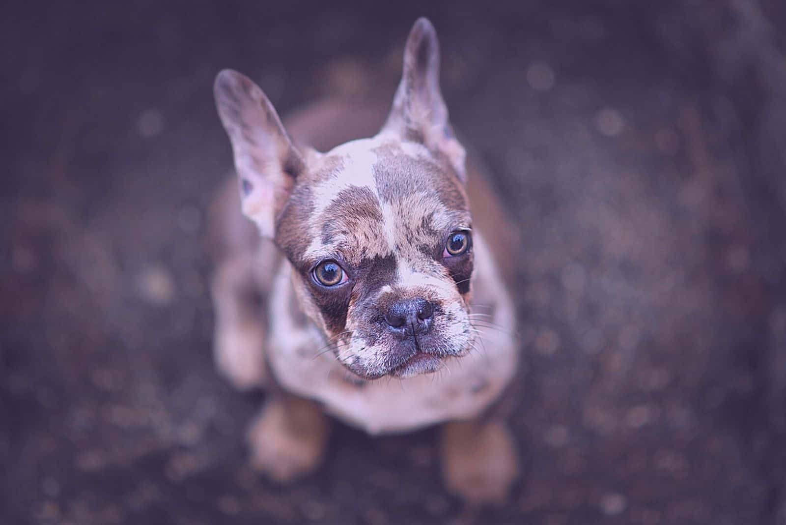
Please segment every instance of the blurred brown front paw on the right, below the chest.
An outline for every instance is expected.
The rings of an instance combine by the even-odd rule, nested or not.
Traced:
[[[519,475],[516,444],[498,421],[446,424],[441,453],[448,490],[470,505],[503,504]]]

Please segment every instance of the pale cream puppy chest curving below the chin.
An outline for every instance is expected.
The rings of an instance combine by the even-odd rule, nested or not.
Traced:
[[[475,417],[498,397],[516,365],[513,352],[484,343],[487,351],[479,348],[435,374],[358,383],[330,352],[317,355],[318,340],[303,336],[312,343],[270,348],[268,359],[281,386],[318,400],[329,413],[370,434]]]

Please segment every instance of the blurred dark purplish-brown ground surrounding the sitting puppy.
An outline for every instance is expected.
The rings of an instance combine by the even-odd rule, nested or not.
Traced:
[[[520,222],[509,505],[433,430],[245,463],[211,358],[211,85],[391,93],[416,17]],[[786,523],[786,3],[35,2],[0,20],[0,522]]]

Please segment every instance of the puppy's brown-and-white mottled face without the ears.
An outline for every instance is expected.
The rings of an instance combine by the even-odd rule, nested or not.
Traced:
[[[472,222],[463,185],[423,146],[378,137],[329,152],[275,240],[307,314],[364,377],[439,369],[472,343]]]

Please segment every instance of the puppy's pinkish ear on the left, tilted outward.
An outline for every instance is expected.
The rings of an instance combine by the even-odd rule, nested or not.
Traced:
[[[232,141],[243,212],[263,237],[272,238],[275,217],[305,167],[303,157],[273,105],[247,76],[225,69],[215,78],[213,92]]]

